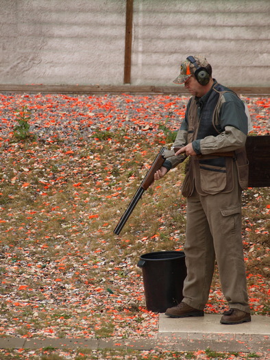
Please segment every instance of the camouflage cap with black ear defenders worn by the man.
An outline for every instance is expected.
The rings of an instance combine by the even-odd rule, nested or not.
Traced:
[[[181,64],[180,75],[173,81],[175,84],[183,84],[189,77],[194,75],[199,84],[205,86],[212,76],[212,67],[204,56],[188,56]]]

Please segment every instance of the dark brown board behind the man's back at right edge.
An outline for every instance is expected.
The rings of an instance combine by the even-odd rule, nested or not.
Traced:
[[[270,187],[270,136],[247,136],[249,187]]]

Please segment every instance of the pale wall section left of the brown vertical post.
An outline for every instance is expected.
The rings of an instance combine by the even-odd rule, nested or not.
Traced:
[[[125,1],[0,0],[2,84],[122,84]]]

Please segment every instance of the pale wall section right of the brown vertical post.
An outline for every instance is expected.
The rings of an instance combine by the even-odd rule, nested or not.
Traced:
[[[132,82],[171,85],[202,53],[221,83],[269,86],[269,24],[269,0],[136,0]]]

